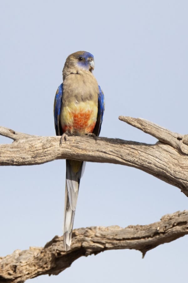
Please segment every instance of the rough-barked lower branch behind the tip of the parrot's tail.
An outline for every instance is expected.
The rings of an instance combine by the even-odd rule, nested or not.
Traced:
[[[188,234],[188,211],[167,214],[150,225],[89,227],[73,230],[71,250],[65,252],[63,237],[55,236],[44,248],[16,250],[0,258],[0,282],[23,283],[39,275],[57,275],[81,256],[112,249],[145,253]]]

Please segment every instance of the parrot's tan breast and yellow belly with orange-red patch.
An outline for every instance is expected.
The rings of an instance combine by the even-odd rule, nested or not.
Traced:
[[[98,112],[99,87],[89,72],[70,74],[63,81],[60,123],[63,132],[75,136],[92,133]]]

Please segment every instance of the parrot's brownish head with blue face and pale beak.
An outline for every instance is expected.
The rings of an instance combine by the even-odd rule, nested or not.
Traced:
[[[91,53],[86,51],[77,51],[67,57],[63,68],[63,74],[65,75],[68,70],[72,71],[73,69],[75,69],[75,71],[82,69],[92,73],[94,66],[94,57]]]

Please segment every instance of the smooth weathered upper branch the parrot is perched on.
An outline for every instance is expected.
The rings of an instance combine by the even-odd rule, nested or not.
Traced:
[[[55,159],[77,159],[132,166],[174,185],[188,196],[188,142],[182,136],[144,119],[119,117],[159,139],[156,144],[120,139],[70,136],[60,147],[59,136],[31,136],[0,127],[14,140],[0,145],[0,165],[34,165]]]

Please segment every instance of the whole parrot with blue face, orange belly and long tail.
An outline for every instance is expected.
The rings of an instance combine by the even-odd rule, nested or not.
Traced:
[[[63,83],[54,101],[57,136],[99,136],[104,113],[104,94],[92,74],[93,55],[86,51],[70,54],[63,68]],[[64,247],[70,250],[83,161],[66,160]]]

